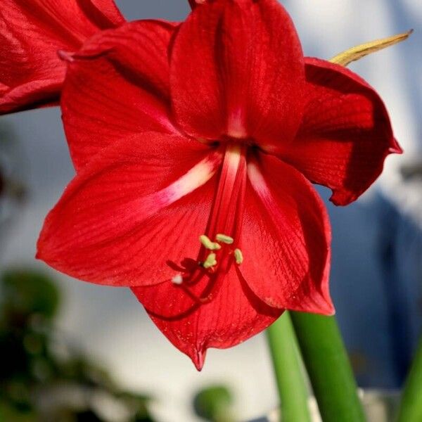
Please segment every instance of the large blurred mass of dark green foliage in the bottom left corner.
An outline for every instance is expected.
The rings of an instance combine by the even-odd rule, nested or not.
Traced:
[[[55,283],[36,271],[0,276],[0,421],[153,422],[150,397],[119,388],[54,328]]]

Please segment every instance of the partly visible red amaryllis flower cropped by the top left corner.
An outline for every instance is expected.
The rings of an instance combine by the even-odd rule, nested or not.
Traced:
[[[58,102],[60,49],[124,23],[113,0],[1,0],[0,114]]]

